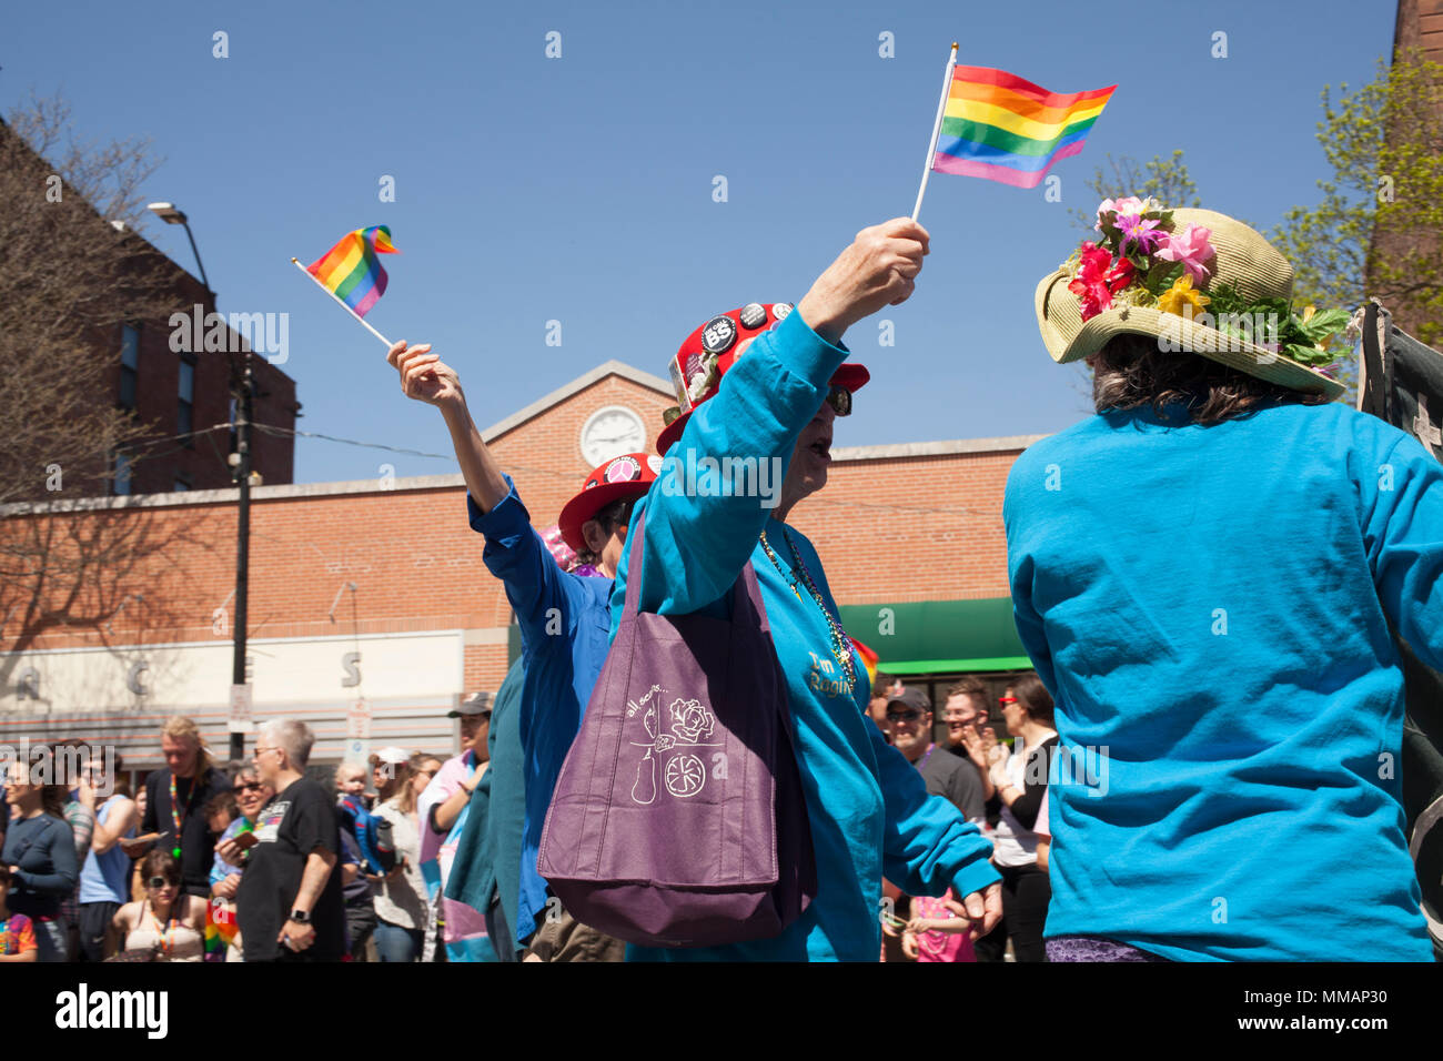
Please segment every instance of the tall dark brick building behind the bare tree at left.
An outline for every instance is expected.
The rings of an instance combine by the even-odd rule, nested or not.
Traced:
[[[0,195],[0,227],[12,237],[39,241],[38,245],[55,256],[59,276],[75,270],[85,277],[72,280],[71,289],[62,287],[55,277],[46,277],[52,286],[36,289],[61,300],[59,318],[75,316],[85,322],[79,341],[72,342],[66,331],[46,332],[40,338],[42,349],[58,348],[66,354],[81,349],[88,365],[97,367],[94,372],[84,372],[81,383],[69,383],[82,391],[81,404],[130,410],[143,426],[143,433],[118,452],[107,452],[101,445],[92,456],[66,459],[66,495],[163,494],[229,486],[227,456],[234,446],[224,424],[235,419],[231,394],[245,351],[251,349],[250,338],[267,335],[267,325],[278,332],[274,328],[277,322],[270,318],[253,320],[250,316],[229,320],[208,318],[215,313],[214,292],[124,222],[101,217],[74,192],[66,198],[69,189],[52,172],[51,163],[4,121],[0,121],[0,160],[6,180],[6,193]],[[94,247],[107,250],[92,253],[89,248]],[[30,253],[39,257],[35,245]],[[105,292],[98,297],[84,294],[87,283],[95,283]],[[128,297],[111,292],[127,292]],[[12,294],[16,292],[12,290]],[[143,305],[144,310],[136,315],[146,319],[120,319],[128,316],[118,312],[121,305]],[[180,322],[186,326],[177,326]],[[193,322],[202,328],[196,329]],[[240,323],[245,333],[235,331],[232,322]],[[33,339],[33,332],[30,335]],[[254,422],[278,429],[277,433],[254,437],[251,466],[264,482],[290,482],[294,453],[290,432],[300,409],[296,384],[263,355],[253,357],[251,365]],[[13,368],[9,359],[6,368]],[[25,409],[35,417],[42,406],[43,398],[38,396],[27,400]],[[53,452],[56,437],[65,436],[72,422],[63,416],[45,416],[40,413],[40,419],[32,422],[45,424],[43,429],[26,432],[23,440],[12,439],[10,450],[0,460],[12,478],[12,488],[6,492],[9,499],[20,499],[30,492],[16,489],[14,482],[33,484],[38,501],[55,497],[51,492],[55,485],[48,485],[40,469],[49,463],[46,453]],[[222,427],[208,430],[216,424]],[[27,429],[30,426],[26,424]],[[84,437],[81,442],[91,445]],[[61,449],[76,453],[74,443],[62,443]]]

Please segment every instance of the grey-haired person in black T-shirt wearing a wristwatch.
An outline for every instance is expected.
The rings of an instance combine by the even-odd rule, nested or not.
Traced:
[[[248,850],[235,839],[219,847],[227,862],[245,862],[235,908],[247,961],[339,961],[346,948],[341,827],[326,790],[303,774],[312,743],[302,722],[261,726],[255,769],[276,795]]]

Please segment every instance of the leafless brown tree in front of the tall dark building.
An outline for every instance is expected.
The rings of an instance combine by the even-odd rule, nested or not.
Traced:
[[[144,141],[76,141],[61,100],[0,123],[0,504],[107,492],[113,453],[156,433],[113,390],[121,325],[175,300],[136,235],[156,165]]]

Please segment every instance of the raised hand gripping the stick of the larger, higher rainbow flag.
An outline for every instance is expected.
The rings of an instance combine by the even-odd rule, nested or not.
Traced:
[[[863,228],[797,305],[802,320],[823,339],[837,342],[857,320],[906,302],[929,238],[911,218]]]

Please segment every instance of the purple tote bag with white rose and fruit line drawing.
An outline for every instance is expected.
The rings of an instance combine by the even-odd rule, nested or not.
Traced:
[[[776,935],[817,894],[786,680],[756,573],[730,619],[626,606],[557,780],[537,869],[580,922],[628,943]]]

